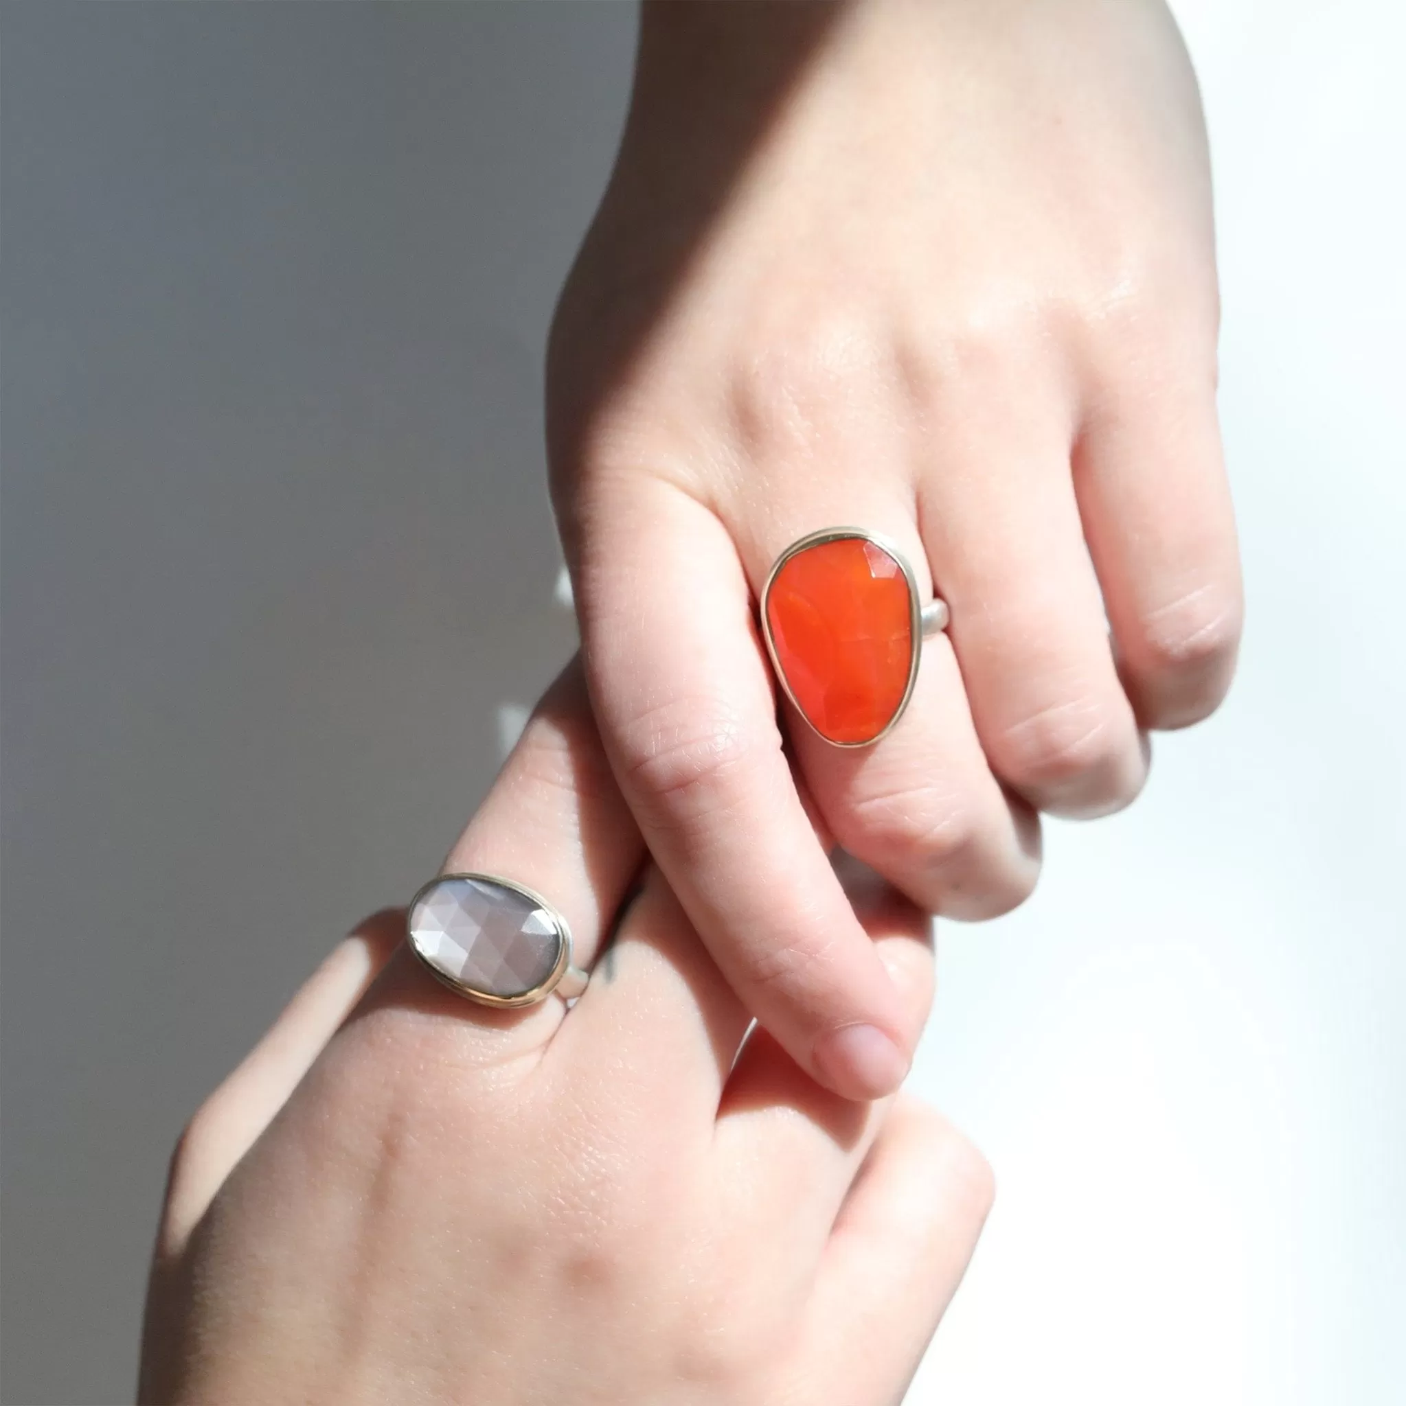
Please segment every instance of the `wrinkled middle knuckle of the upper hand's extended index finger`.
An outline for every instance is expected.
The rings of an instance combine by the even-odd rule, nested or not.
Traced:
[[[673,699],[623,727],[617,744],[628,780],[673,824],[686,824],[735,806],[766,748],[779,749],[780,738],[759,738],[716,699]]]

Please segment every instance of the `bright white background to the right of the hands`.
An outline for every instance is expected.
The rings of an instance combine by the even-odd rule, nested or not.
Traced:
[[[939,931],[918,1087],[997,1168],[911,1402],[1406,1400],[1406,25],[1184,0],[1247,631],[1144,797]]]

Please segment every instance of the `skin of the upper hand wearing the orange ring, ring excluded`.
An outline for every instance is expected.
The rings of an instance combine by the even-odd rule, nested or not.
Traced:
[[[1205,134],[1160,3],[645,4],[553,329],[554,502],[620,789],[744,1007],[827,1087],[890,1092],[917,1026],[793,775],[914,903],[984,918],[1029,894],[1039,811],[1128,804],[1147,731],[1225,695],[1216,333]],[[755,627],[776,555],[835,524],[952,607],[858,752],[778,717]]]

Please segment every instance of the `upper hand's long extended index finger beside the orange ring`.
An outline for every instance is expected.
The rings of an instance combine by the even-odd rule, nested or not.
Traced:
[[[889,1092],[917,1038],[817,844],[782,754],[723,524],[609,479],[575,564],[592,697],[650,851],[747,1008],[815,1078]]]

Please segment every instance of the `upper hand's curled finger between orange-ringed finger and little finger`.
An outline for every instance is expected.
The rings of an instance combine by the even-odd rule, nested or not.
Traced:
[[[1137,794],[1147,752],[1084,547],[1064,412],[1031,384],[993,373],[945,411],[920,522],[991,769],[1039,810],[1097,815]]]

